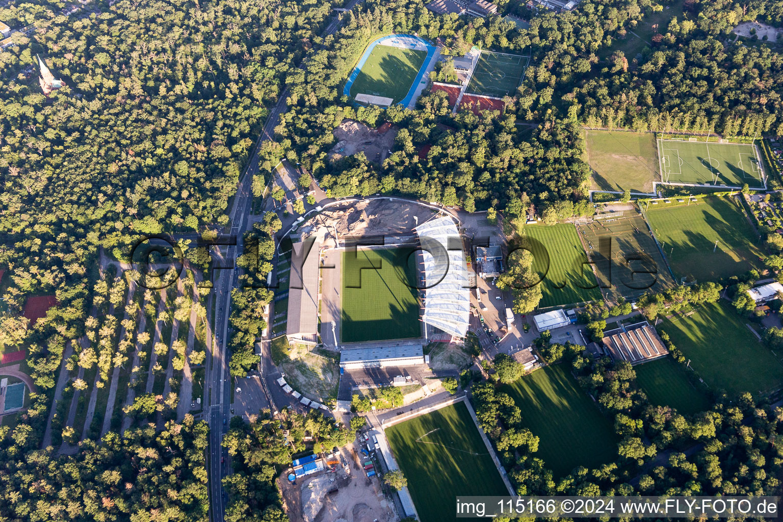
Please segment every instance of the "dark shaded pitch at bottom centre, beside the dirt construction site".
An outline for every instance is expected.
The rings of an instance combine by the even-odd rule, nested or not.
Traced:
[[[421,522],[463,520],[456,519],[458,495],[508,495],[464,403],[395,424],[385,433]]]

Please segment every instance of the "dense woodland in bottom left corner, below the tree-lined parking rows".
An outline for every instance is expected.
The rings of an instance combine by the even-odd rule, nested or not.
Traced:
[[[110,433],[74,456],[49,448],[22,458],[15,432],[0,447],[2,520],[206,520],[208,433],[186,416],[157,433],[154,424]]]

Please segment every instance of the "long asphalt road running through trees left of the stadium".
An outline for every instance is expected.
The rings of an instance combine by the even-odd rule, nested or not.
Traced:
[[[350,9],[359,2],[360,0],[352,0],[345,7]],[[324,35],[334,33],[337,27],[339,27],[339,23],[339,17],[334,16],[327,26]],[[242,236],[244,231],[250,226],[247,216],[252,211],[251,182],[253,175],[258,173],[258,149],[262,142],[273,139],[274,128],[280,120],[280,114],[286,110],[287,95],[287,89],[281,92],[278,102],[272,107],[262,134],[258,137],[258,141],[255,144],[253,157],[247,164],[244,176],[240,178],[233,208],[231,214],[229,214],[232,235],[236,234],[236,245],[229,245],[227,248],[223,247],[226,248],[223,257],[227,261],[225,264],[227,266],[235,266],[236,257],[242,252]],[[209,490],[211,520],[212,522],[223,522],[223,520],[226,520],[226,500],[228,497],[222,488],[222,479],[230,473],[230,463],[228,452],[226,452],[226,448],[222,447],[221,443],[223,435],[228,431],[229,419],[231,418],[231,379],[228,368],[230,354],[226,343],[230,336],[231,290],[237,285],[239,272],[236,268],[223,269],[218,271],[216,277],[214,285],[216,299],[215,344],[213,345],[209,373],[206,379],[208,387],[205,394],[205,402],[207,404],[204,405],[204,408],[208,407],[209,409],[207,419],[210,427]],[[262,364],[264,363],[271,365],[271,361],[265,360]]]

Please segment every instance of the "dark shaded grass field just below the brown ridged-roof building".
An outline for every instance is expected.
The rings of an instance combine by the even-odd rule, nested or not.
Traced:
[[[637,374],[637,384],[647,394],[651,404],[671,406],[684,415],[704,412],[710,408],[704,385],[699,383],[699,387],[696,387],[692,384],[686,375],[691,370],[685,369],[673,358],[645,362],[633,369]]]

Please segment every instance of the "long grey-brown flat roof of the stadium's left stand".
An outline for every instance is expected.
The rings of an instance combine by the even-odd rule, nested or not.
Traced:
[[[319,247],[312,238],[292,245],[286,325],[289,343],[318,344]]]

